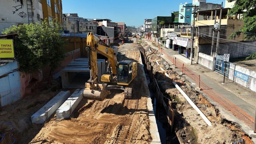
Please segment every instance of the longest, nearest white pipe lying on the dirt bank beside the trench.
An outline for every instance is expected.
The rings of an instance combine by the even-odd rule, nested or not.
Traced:
[[[175,85],[175,87],[180,91],[180,93],[184,96],[184,98],[188,101],[188,103],[196,110],[196,112],[203,118],[203,120],[205,121],[205,123],[209,126],[212,126],[211,121],[204,115],[204,113],[196,107],[196,105],[193,103],[192,100],[190,100],[190,98],[188,97],[188,95],[183,92],[183,90],[179,87],[178,84],[176,84],[174,81],[172,81],[172,84]]]

